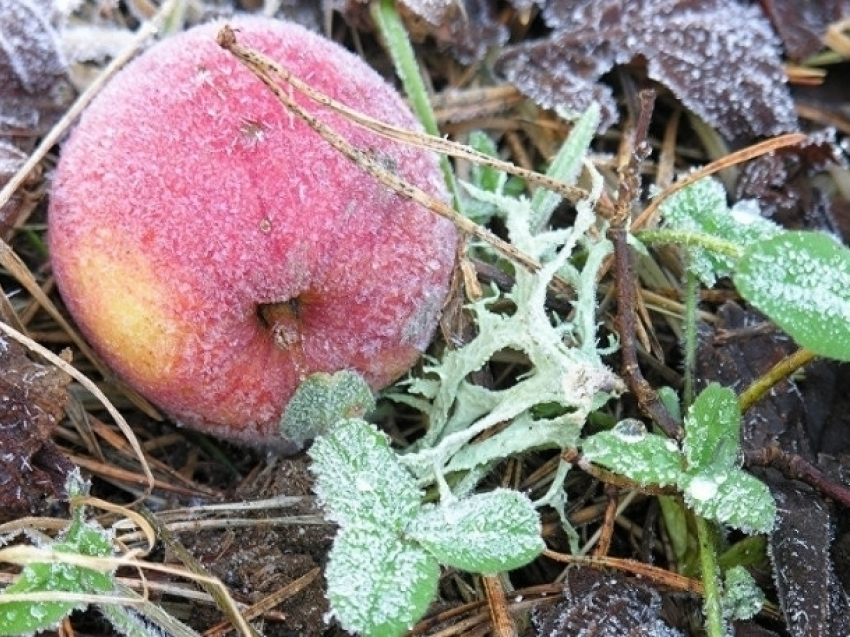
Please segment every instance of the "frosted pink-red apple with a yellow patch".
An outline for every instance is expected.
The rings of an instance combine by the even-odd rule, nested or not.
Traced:
[[[316,89],[418,128],[335,43],[282,21],[230,23]],[[154,45],[87,108],[55,172],[48,244],[68,310],[121,378],[180,424],[274,446],[307,375],[352,369],[379,389],[416,362],[457,233],[286,112],[216,44],[221,24]],[[297,99],[447,199],[435,155]]]

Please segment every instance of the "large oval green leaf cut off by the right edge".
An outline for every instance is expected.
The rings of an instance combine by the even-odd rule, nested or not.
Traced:
[[[751,245],[734,280],[797,343],[850,361],[850,250],[832,237],[788,232]]]

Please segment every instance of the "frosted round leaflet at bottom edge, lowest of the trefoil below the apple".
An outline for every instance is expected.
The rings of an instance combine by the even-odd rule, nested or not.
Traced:
[[[325,569],[340,624],[373,637],[407,632],[437,594],[439,576],[432,555],[378,527],[340,529]]]

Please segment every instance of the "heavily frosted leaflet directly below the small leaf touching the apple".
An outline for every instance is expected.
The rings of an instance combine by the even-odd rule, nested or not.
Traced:
[[[387,436],[363,420],[344,420],[309,451],[316,493],[340,526],[399,531],[415,515],[421,493],[390,449]]]

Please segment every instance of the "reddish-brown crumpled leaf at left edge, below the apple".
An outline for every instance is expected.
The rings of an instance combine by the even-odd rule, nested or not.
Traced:
[[[71,462],[56,448],[53,430],[64,415],[70,378],[32,361],[23,347],[0,337],[0,524],[43,515],[64,499]]]

